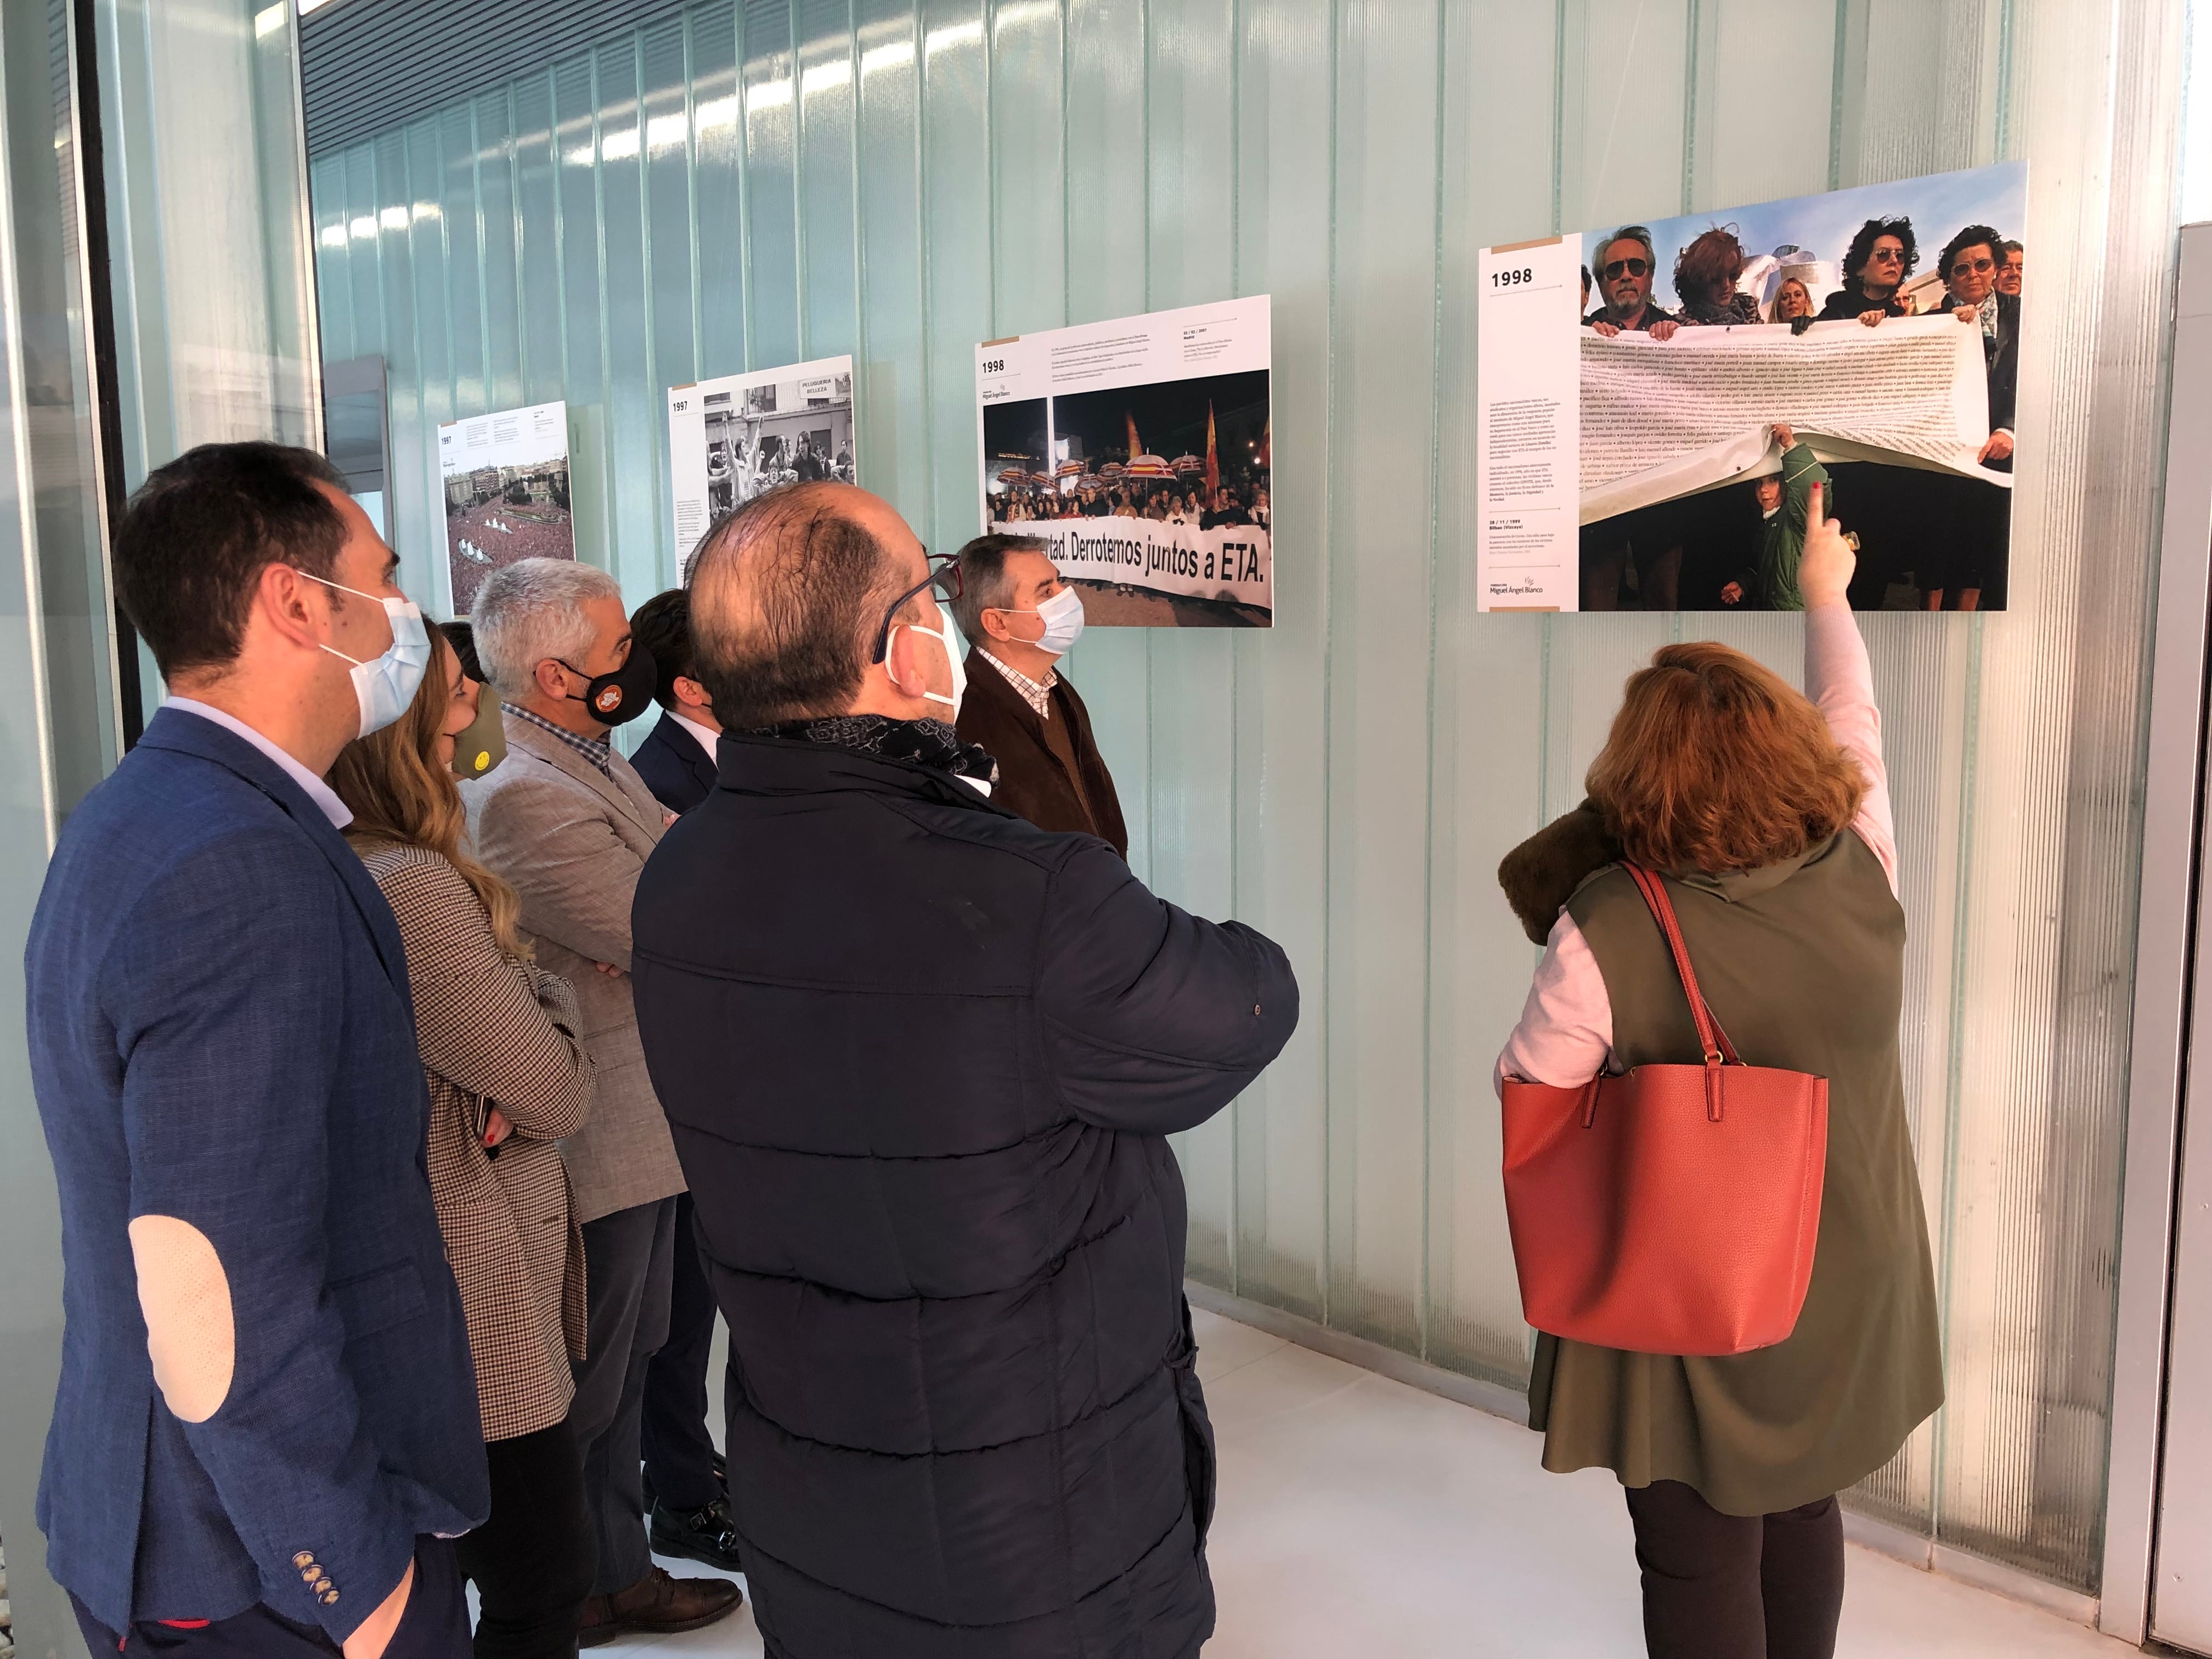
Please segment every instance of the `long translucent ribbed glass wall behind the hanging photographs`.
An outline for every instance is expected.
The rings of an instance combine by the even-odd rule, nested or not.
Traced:
[[[2026,157],[2011,611],[1867,617],[1953,1405],[1856,1502],[2088,1586],[2179,27],[2181,0],[719,0],[314,157],[325,345],[392,365],[418,591],[445,593],[431,427],[520,385],[577,411],[584,553],[641,599],[679,560],[670,383],[852,349],[863,480],[949,549],[978,341],[1272,294],[1276,626],[1093,630],[1071,661],[1135,867],[1283,940],[1305,993],[1283,1062],[1179,1137],[1192,1272],[1517,1385],[1491,1062],[1535,953],[1491,872],[1575,805],[1657,644],[1794,677],[1801,635],[1475,613],[1473,250]]]

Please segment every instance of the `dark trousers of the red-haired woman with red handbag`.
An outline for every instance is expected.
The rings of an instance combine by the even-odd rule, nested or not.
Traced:
[[[1843,1511],[1723,1515],[1679,1480],[1628,1486],[1652,1659],[1832,1659]]]

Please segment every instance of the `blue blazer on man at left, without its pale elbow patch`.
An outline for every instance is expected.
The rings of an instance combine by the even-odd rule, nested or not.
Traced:
[[[113,1630],[265,1601],[343,1641],[418,1533],[489,1509],[392,909],[283,768],[161,710],[71,814],[24,967],[62,1192],[46,1564]],[[142,1214],[230,1285],[206,1422],[155,1387]]]

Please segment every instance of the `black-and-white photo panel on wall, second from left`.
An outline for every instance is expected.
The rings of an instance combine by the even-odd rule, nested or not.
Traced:
[[[668,471],[686,564],[723,513],[799,480],[858,482],[852,358],[668,387]]]

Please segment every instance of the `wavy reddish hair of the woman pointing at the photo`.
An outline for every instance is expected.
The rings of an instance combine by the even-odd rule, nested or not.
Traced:
[[[1867,796],[1820,710],[1712,639],[1666,646],[1628,677],[1586,785],[1628,858],[1708,874],[1798,858]]]

